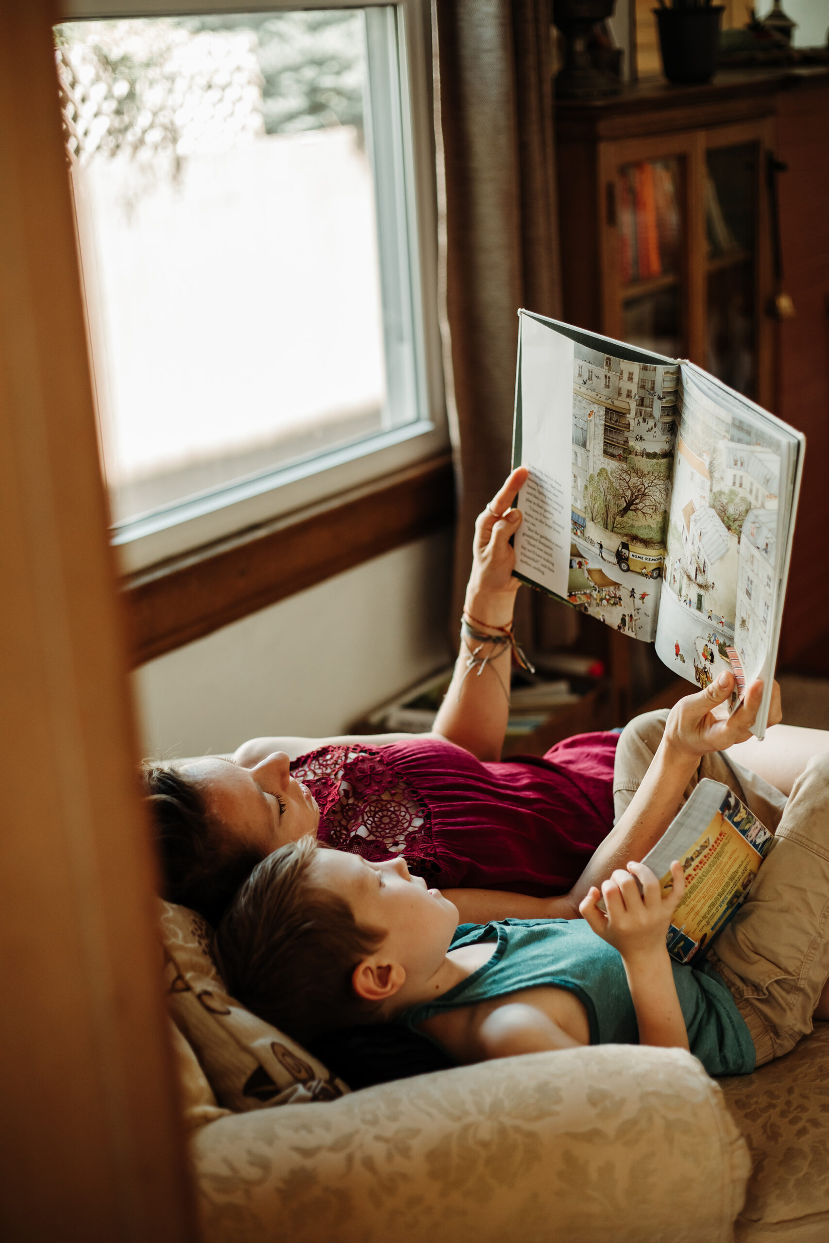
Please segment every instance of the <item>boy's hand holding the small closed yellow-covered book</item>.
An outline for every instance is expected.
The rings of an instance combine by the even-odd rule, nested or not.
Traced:
[[[579,905],[582,917],[594,932],[619,951],[628,962],[665,950],[667,926],[685,892],[682,864],[671,864],[674,888],[662,897],[659,880],[644,863],[629,863],[616,869],[602,885],[590,889]],[[639,885],[641,885],[641,892]],[[607,915],[597,902],[604,899]]]

